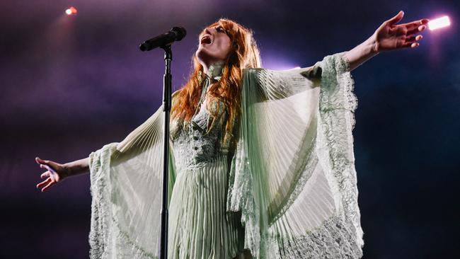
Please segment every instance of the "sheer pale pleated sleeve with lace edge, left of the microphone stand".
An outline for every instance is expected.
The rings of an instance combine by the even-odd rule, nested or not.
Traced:
[[[122,142],[107,144],[89,158],[91,258],[158,258],[162,109]],[[172,159],[170,192],[175,179]]]

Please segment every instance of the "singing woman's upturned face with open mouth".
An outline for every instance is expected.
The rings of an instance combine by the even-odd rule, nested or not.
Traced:
[[[205,67],[224,61],[231,50],[231,40],[221,25],[208,27],[200,34],[197,55],[200,64]]]

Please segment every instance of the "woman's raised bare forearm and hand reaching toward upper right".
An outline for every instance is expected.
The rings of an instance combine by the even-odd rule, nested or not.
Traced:
[[[350,71],[380,52],[418,47],[422,35],[415,34],[425,30],[429,20],[421,19],[397,25],[396,23],[401,21],[403,16],[403,11],[400,11],[396,16],[382,23],[369,39],[345,52],[345,58],[350,62]]]

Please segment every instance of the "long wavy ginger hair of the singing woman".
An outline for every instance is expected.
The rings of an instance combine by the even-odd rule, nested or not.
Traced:
[[[222,78],[209,87],[208,95],[224,103],[229,115],[225,125],[224,142],[226,142],[232,135],[233,122],[241,111],[241,79],[243,77],[243,69],[260,67],[260,52],[251,30],[224,18],[212,23],[207,28],[218,25],[222,26],[226,35],[229,36],[231,50],[224,60]],[[199,40],[203,34],[204,30],[200,33]],[[190,79],[174,96],[171,108],[171,117],[173,119],[190,121],[200,101],[202,91],[200,82],[204,79],[203,67],[198,61],[196,54],[193,55],[192,59],[193,71],[190,74]],[[212,125],[214,125],[219,108],[211,109],[209,105],[212,105],[212,102],[207,103],[207,110],[214,110],[214,113],[211,112],[213,117]],[[210,128],[212,126],[209,127],[208,132]]]

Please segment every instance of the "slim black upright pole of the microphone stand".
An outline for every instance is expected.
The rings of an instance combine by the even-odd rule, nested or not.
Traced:
[[[164,53],[165,73],[163,76],[163,193],[161,196],[161,225],[160,225],[160,259],[168,258],[168,166],[169,166],[169,113],[171,111],[171,60],[173,52],[171,45],[161,47]]]

